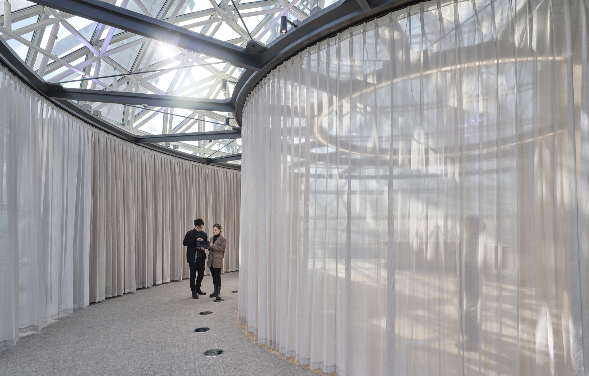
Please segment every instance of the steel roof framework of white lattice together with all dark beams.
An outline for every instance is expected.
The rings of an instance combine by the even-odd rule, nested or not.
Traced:
[[[32,24],[8,29],[5,17],[0,16],[4,38],[0,38],[0,55],[4,65],[42,95],[107,132],[179,157],[240,168],[226,163],[241,156],[241,146],[236,143],[241,132],[234,129],[239,130],[247,95],[270,70],[322,39],[417,1],[340,0],[329,6],[325,6],[326,0],[210,2],[209,9],[189,12],[190,0],[167,0],[158,14],[152,15],[145,6],[147,0],[38,1],[39,5],[11,12],[12,24],[36,16],[37,22]],[[131,6],[142,13],[127,9]],[[280,35],[276,23],[282,15],[289,16],[296,27]],[[252,17],[262,19],[247,27],[244,22]],[[96,22],[91,25],[91,36],[74,27],[78,18]],[[229,26],[236,38],[216,38],[223,25]],[[201,28],[200,32],[191,30],[195,28]],[[70,33],[64,40],[78,47],[59,53],[56,41],[64,30]],[[11,39],[28,48],[26,59],[16,56],[8,44]],[[263,41],[269,43],[264,45]],[[173,46],[170,51],[175,52],[157,60],[155,51],[166,45]],[[136,49],[131,66],[121,64],[117,54]],[[193,76],[191,69],[200,64],[198,69],[208,76]],[[158,86],[158,79],[170,73],[173,78],[167,89]],[[59,85],[68,78],[84,80],[64,83],[70,87]],[[221,91],[223,80],[235,80],[233,90]],[[124,105],[120,123],[93,113],[113,105]],[[182,109],[190,112],[178,117]],[[147,132],[145,126],[158,116],[163,117],[161,134]],[[230,118],[227,126],[226,117]],[[205,132],[211,121],[220,126],[213,125],[212,132]],[[198,132],[188,132],[193,129]],[[158,145],[160,142],[176,143],[184,152]],[[218,157],[207,157],[213,153]]]

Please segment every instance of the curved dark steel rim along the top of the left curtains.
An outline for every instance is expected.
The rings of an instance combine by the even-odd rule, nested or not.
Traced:
[[[50,98],[47,94],[52,92],[52,90],[59,90],[61,89],[61,85],[55,85],[53,83],[45,82],[41,77],[34,72],[21,58],[16,55],[14,50],[10,48],[8,43],[4,41],[4,39],[0,38],[0,63],[4,65],[6,68],[12,71],[19,79],[25,82],[28,86],[32,89],[37,91],[40,95],[47,98],[50,102],[54,103],[59,108],[64,109],[68,113],[71,113],[73,116],[78,117],[78,119],[86,122],[98,129],[104,130],[111,135],[117,136],[123,140],[138,144],[140,143],[139,140],[142,136],[134,135],[133,133],[127,132],[121,127],[115,126],[106,120],[102,119],[101,117],[95,116],[91,112],[81,108],[80,106],[76,105],[75,103],[71,102],[70,100],[64,99],[55,99]],[[230,131],[231,136],[233,138],[237,138],[237,135],[240,135],[238,132]],[[227,138],[225,134],[221,135],[223,139]],[[211,135],[208,136],[211,139]],[[216,137],[213,136],[213,139]],[[225,167],[228,169],[234,170],[241,170],[241,166],[239,164],[233,163],[224,163],[222,160],[216,160],[216,158],[205,158],[199,157],[196,155],[190,155],[187,153],[179,152],[178,150],[171,149],[170,147],[165,147],[158,145],[157,143],[146,143],[143,147],[147,147],[148,149],[155,150],[160,153],[164,153],[167,155],[171,155],[174,157],[178,157],[181,159],[191,160],[193,162],[204,163],[204,164],[214,164],[215,166]],[[238,158],[239,159],[239,158]]]

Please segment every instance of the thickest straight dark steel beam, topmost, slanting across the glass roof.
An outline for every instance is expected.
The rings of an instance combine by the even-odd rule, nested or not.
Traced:
[[[256,55],[239,46],[219,41],[211,36],[190,31],[157,18],[129,11],[100,0],[40,0],[38,4],[58,9],[72,15],[90,19],[100,24],[147,36],[180,48],[203,53],[241,68],[259,69]]]

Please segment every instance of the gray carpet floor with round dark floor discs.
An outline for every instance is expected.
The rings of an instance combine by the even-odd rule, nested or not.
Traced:
[[[90,304],[0,351],[0,375],[312,375],[241,333],[230,292],[238,273],[221,274],[220,303],[209,298],[213,283],[205,276],[207,295],[198,300],[182,280]],[[194,333],[198,327],[211,330]],[[225,353],[205,357],[211,348]]]

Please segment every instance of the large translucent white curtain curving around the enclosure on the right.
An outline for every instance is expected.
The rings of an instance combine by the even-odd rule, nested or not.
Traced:
[[[343,375],[581,375],[582,0],[424,2],[246,102],[239,318]]]

